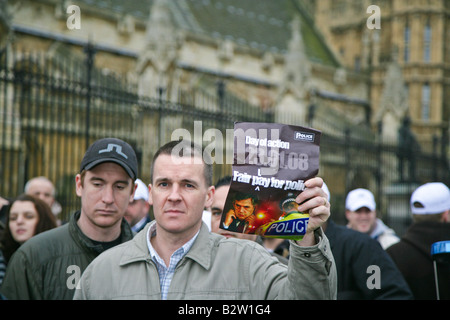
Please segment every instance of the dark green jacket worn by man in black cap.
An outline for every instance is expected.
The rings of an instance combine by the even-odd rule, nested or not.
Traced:
[[[0,288],[7,299],[71,300],[88,264],[104,251],[81,232],[80,212],[69,223],[26,241],[11,257]],[[133,234],[123,219],[121,242]]]

